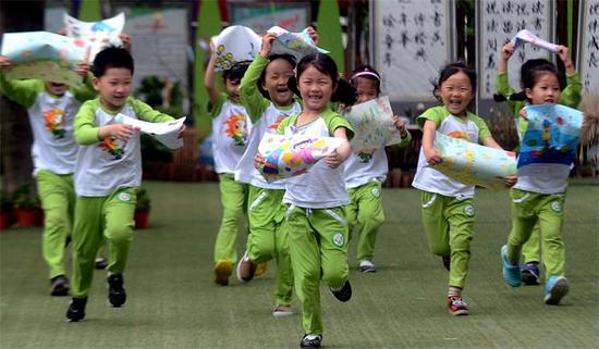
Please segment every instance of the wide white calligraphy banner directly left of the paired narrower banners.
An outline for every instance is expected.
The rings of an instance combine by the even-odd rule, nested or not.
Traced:
[[[372,1],[375,65],[392,101],[432,100],[430,82],[452,60],[453,1]]]

